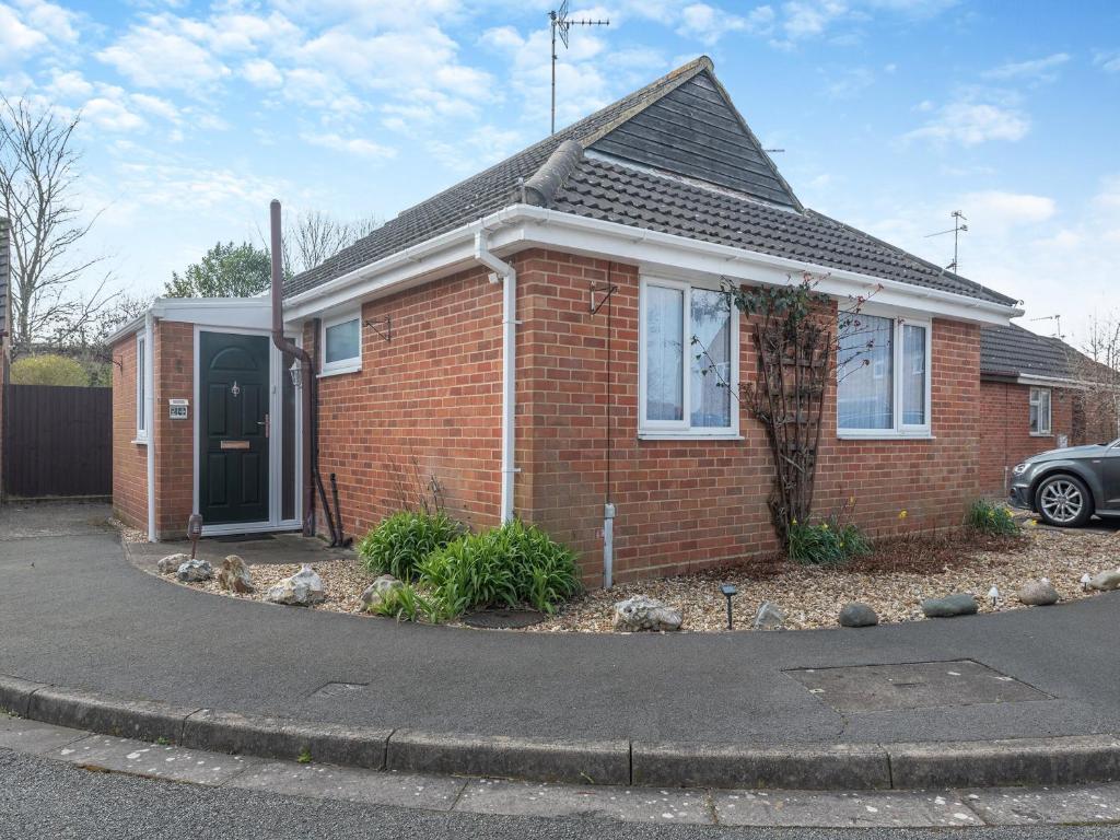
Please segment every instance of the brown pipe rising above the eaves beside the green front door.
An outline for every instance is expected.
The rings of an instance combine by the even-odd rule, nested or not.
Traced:
[[[323,516],[327,521],[330,530],[330,545],[342,544],[342,528],[336,526],[330,512],[330,504],[327,502],[327,493],[323,486],[323,476],[319,473],[319,393],[318,382],[315,376],[315,363],[311,355],[295,342],[289,340],[283,334],[283,268],[282,246],[280,231],[280,202],[272,199],[269,205],[269,214],[272,227],[272,344],[281,353],[293,355],[299,360],[300,372],[304,379],[304,386],[300,389],[304,412],[304,535],[315,534],[315,511],[312,511],[315,489],[319,491],[319,501],[323,504]],[[337,500],[337,496],[336,496]]]

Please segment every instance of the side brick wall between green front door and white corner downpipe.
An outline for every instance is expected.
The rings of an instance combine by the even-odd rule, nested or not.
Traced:
[[[432,478],[450,514],[495,524],[502,287],[467,271],[363,308],[363,320],[384,317],[392,340],[363,326],[360,372],[318,380],[319,464],[327,493],[337,475],[345,532],[416,505]],[[315,339],[308,326],[305,346],[318,360]],[[316,511],[325,533],[318,500]]]

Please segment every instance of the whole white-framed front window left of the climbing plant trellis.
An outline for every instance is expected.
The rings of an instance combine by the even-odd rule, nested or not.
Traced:
[[[643,278],[638,334],[640,437],[737,437],[739,319],[727,295]]]

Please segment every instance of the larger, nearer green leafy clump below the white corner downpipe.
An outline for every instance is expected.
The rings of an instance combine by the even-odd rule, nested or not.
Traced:
[[[517,520],[433,551],[419,579],[441,619],[517,604],[551,614],[580,588],[571,550]]]

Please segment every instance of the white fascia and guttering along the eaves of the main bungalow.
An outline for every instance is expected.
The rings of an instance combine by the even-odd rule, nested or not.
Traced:
[[[791,277],[808,272],[822,278],[819,291],[839,299],[874,292],[880,306],[977,324],[1007,325],[1023,314],[1014,306],[939,289],[522,204],[296,295],[284,301],[284,321],[321,316],[355,300],[368,300],[460,270],[473,263],[474,235],[482,230],[492,232],[491,250],[503,254],[534,246],[556,248],[632,262],[643,270],[682,279],[727,277],[774,286],[784,286]]]

